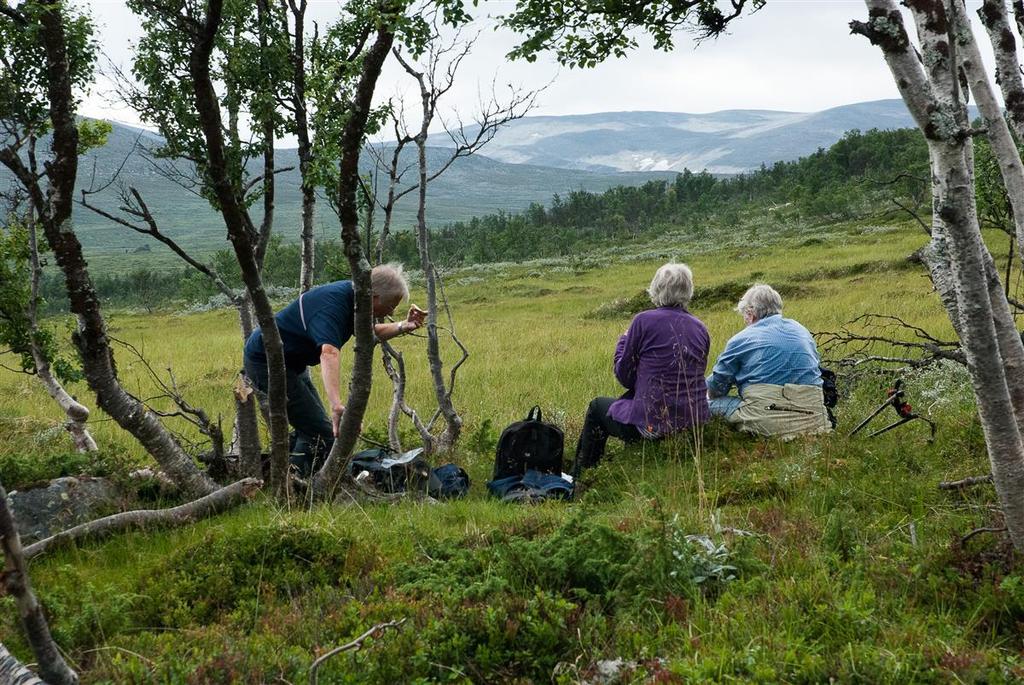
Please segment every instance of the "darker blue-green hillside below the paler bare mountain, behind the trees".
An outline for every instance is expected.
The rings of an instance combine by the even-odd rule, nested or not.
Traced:
[[[105,185],[121,168],[118,182],[90,199],[90,204],[106,211],[115,211],[121,204],[119,186],[122,183],[138,188],[161,223],[161,228],[187,249],[208,252],[225,246],[223,223],[203,198],[187,188],[168,181],[158,173],[156,165],[164,161],[151,161],[144,148],[159,145],[159,136],[136,128],[115,124],[108,144],[89,153],[82,161],[79,188],[98,188]],[[443,163],[447,154],[443,149],[429,151],[431,168]],[[403,164],[415,163],[410,153]],[[298,159],[294,149],[279,149],[279,167],[294,167],[278,176],[276,229],[286,237],[298,238],[301,197]],[[370,170],[368,156],[362,166]],[[189,165],[178,165],[187,176]],[[254,173],[256,171],[254,165]],[[409,173],[409,177],[414,175]],[[427,219],[433,225],[468,219],[472,216],[499,211],[515,212],[530,203],[546,203],[555,192],[571,189],[604,190],[614,185],[637,185],[651,178],[670,177],[674,173],[618,173],[567,171],[538,165],[506,164],[486,157],[474,156],[457,161],[436,182],[429,186]],[[0,176],[0,181],[3,177]],[[382,185],[380,190],[384,191]],[[260,209],[255,213],[259,216]],[[396,210],[398,229],[408,227],[416,215],[415,194],[410,194]],[[153,244],[145,236],[133,233],[108,219],[85,209],[76,209],[75,221],[82,242],[92,256],[111,256],[131,253]],[[338,236],[337,218],[322,201],[317,211],[317,231],[326,238]],[[154,246],[154,253],[161,248]]]

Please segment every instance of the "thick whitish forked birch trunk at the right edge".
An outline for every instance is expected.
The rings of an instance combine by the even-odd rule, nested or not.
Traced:
[[[986,94],[977,50],[972,49],[976,45],[969,35],[971,27],[959,0],[910,3],[921,40],[919,58],[896,4],[892,0],[865,2],[868,22],[853,22],[851,30],[882,48],[900,94],[928,142],[935,198],[933,241],[928,252],[934,266],[930,270],[939,276],[937,289],[961,338],[1007,528],[1014,546],[1022,550],[1024,442],[1015,409],[1020,408],[1022,396],[1018,365],[1024,349],[978,224],[972,132],[967,126],[956,69],[959,58],[981,104]],[[953,41],[950,36],[958,38]],[[1002,144],[997,154],[1006,156],[999,131],[990,135],[995,137],[993,148]],[[1019,156],[1017,165],[1010,162],[1001,160],[1000,170],[1012,184],[1017,182]]]

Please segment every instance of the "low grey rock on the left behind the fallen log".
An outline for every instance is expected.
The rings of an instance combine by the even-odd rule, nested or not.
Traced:
[[[121,491],[106,478],[67,476],[7,495],[22,541],[31,543],[121,510]]]

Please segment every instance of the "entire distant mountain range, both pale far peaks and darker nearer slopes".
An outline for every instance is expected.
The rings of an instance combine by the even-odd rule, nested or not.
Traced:
[[[458,160],[431,183],[427,218],[430,225],[439,226],[487,213],[515,212],[530,203],[547,204],[555,194],[638,185],[654,178],[674,177],[685,168],[716,174],[740,173],[827,147],[850,129],[911,125],[901,100],[862,102],[811,114],[735,110],[702,115],[617,112],[528,117],[509,124],[482,154]],[[436,145],[428,152],[431,168],[447,159],[440,138],[432,136],[430,140],[431,145]],[[138,152],[139,146],[153,147],[160,142],[154,133],[115,124],[108,144],[83,159],[79,187],[102,186],[120,169],[120,181],[138,188],[164,232],[189,250],[209,252],[226,247],[223,223],[209,204],[167,180]],[[294,149],[279,149],[276,157],[279,167],[295,167],[278,175],[276,231],[286,240],[297,240],[297,155]],[[403,164],[414,161],[410,151]],[[365,155],[361,167],[369,171],[369,156]],[[184,176],[190,171],[187,164],[180,169]],[[0,183],[7,179],[0,170]],[[415,196],[410,194],[398,205],[396,229],[412,225]],[[111,184],[90,202],[116,212],[120,204],[118,184]],[[258,207],[254,211],[259,214]],[[148,237],[84,208],[76,208],[75,223],[93,256],[124,254],[153,244]],[[318,204],[317,225],[318,236],[338,238],[337,218],[324,201]],[[162,250],[154,246],[153,254]]]

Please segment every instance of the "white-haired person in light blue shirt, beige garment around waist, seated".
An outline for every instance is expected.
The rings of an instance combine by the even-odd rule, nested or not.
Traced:
[[[729,339],[708,377],[712,415],[783,438],[830,430],[810,332],[782,316],[782,297],[764,284],[750,288],[736,311],[746,328]]]

